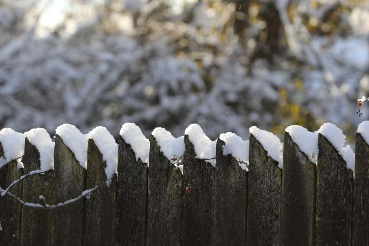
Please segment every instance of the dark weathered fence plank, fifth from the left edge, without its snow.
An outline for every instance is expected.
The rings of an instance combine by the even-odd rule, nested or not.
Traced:
[[[119,138],[115,245],[144,246],[146,241],[147,165]]]

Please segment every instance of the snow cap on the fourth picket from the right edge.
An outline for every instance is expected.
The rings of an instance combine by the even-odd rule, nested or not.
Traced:
[[[260,130],[256,126],[250,127],[250,133],[258,140],[268,152],[268,156],[278,162],[278,167],[283,167],[283,143],[269,131]]]

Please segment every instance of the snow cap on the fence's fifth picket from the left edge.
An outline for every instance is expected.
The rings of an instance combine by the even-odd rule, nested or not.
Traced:
[[[124,141],[131,145],[136,154],[136,160],[149,164],[150,141],[146,139],[141,129],[134,123],[124,123],[119,132]]]

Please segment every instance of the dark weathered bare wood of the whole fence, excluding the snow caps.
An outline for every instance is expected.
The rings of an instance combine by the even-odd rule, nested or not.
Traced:
[[[0,198],[0,245],[119,246],[331,246],[369,245],[369,146],[356,135],[355,179],[344,159],[321,134],[318,164],[284,135],[283,169],[250,135],[249,171],[223,156],[216,168],[196,156],[184,137],[183,174],[150,139],[150,166],[136,161],[119,139],[118,178],[89,199],[57,209]],[[0,155],[3,155],[0,146]],[[0,187],[39,167],[37,148],[25,140],[24,170],[13,161],[0,170]],[[102,154],[88,142],[83,169],[59,136],[54,170],[11,188],[24,201],[52,204],[78,197],[106,180]]]

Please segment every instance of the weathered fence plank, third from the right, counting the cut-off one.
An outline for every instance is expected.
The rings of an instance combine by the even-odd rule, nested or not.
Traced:
[[[316,165],[284,133],[280,245],[313,246]]]

